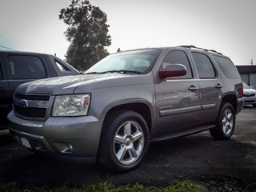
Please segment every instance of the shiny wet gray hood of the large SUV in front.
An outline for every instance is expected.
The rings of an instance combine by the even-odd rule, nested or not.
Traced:
[[[17,93],[26,94],[74,94],[107,86],[124,86],[138,84],[136,79],[143,75],[137,74],[86,74],[45,78],[24,83],[16,89]],[[129,78],[129,80],[127,80]],[[124,79],[124,80],[122,80]],[[76,90],[77,89],[77,90]]]

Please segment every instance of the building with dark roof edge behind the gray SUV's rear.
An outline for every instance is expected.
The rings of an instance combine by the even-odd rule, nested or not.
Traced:
[[[256,66],[236,66],[242,78],[242,82],[256,89]]]

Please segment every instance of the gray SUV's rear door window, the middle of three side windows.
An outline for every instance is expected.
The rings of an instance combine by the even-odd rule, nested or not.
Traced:
[[[206,54],[192,53],[199,78],[216,78],[214,66]]]

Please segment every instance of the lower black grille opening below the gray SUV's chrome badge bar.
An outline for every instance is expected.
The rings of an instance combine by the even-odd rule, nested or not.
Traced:
[[[46,108],[22,107],[14,105],[14,113],[25,118],[46,118]]]

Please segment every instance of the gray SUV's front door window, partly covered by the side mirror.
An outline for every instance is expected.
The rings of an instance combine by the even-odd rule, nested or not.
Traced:
[[[172,64],[182,64],[183,66],[186,66],[186,75],[181,77],[174,77],[170,79],[175,78],[193,78],[193,74],[190,67],[190,62],[186,56],[186,53],[182,50],[172,50],[168,54],[166,54],[166,58],[162,62],[162,66],[160,70],[165,70],[166,66],[172,65]]]

